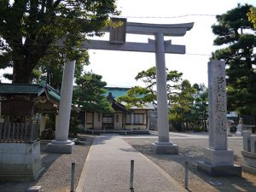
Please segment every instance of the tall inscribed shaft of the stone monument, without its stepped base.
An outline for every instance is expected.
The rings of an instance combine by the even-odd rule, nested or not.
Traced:
[[[224,147],[227,140],[226,80],[224,61],[210,61],[208,63],[208,88],[209,147]]]

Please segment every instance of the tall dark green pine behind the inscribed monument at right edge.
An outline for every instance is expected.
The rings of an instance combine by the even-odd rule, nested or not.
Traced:
[[[256,36],[253,24],[247,19],[250,5],[238,5],[212,26],[217,35],[215,45],[224,48],[212,54],[214,60],[226,62],[228,110],[253,115],[256,122]]]

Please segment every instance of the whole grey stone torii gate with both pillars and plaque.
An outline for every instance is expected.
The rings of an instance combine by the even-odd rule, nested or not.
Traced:
[[[113,23],[119,23],[119,21],[121,21],[121,25],[104,29],[105,32],[110,32],[109,41],[86,41],[82,48],[155,53],[159,140],[152,144],[152,149],[156,154],[176,154],[177,145],[169,140],[165,53],[185,54],[185,45],[172,44],[171,40],[165,41],[164,36],[184,36],[186,32],[194,26],[194,23],[171,25],[146,24],[126,22],[126,19],[113,18]],[[126,33],[154,35],[154,40],[148,39],[148,43],[125,42]],[[55,153],[72,153],[73,143],[67,140],[67,136],[70,118],[70,110],[68,108],[71,106],[73,89],[73,84],[70,82],[73,82],[74,67],[75,61],[67,62],[63,73],[60,113],[55,133],[56,137],[48,146],[48,151]]]

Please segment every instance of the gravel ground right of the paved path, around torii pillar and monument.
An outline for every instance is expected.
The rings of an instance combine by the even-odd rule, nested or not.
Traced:
[[[202,148],[208,146],[208,139],[184,139],[173,138],[179,148],[179,154],[165,155],[153,154],[150,151],[150,144],[155,139],[125,139],[125,141],[139,152],[146,155],[157,166],[160,166],[165,172],[173,177],[183,186],[184,183],[184,162],[189,161],[189,190],[188,191],[256,191],[256,176],[242,172],[242,177],[210,177],[203,172],[198,172],[196,162],[203,160]],[[229,148],[234,151],[235,163],[241,165],[241,139],[229,139]],[[135,162],[136,166],[136,162]],[[212,185],[210,182],[218,181],[218,185]]]

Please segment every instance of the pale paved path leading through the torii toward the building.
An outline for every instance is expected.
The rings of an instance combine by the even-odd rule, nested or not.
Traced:
[[[116,135],[96,137],[76,192],[130,191],[130,165],[135,161],[134,191],[186,191],[159,166]]]

